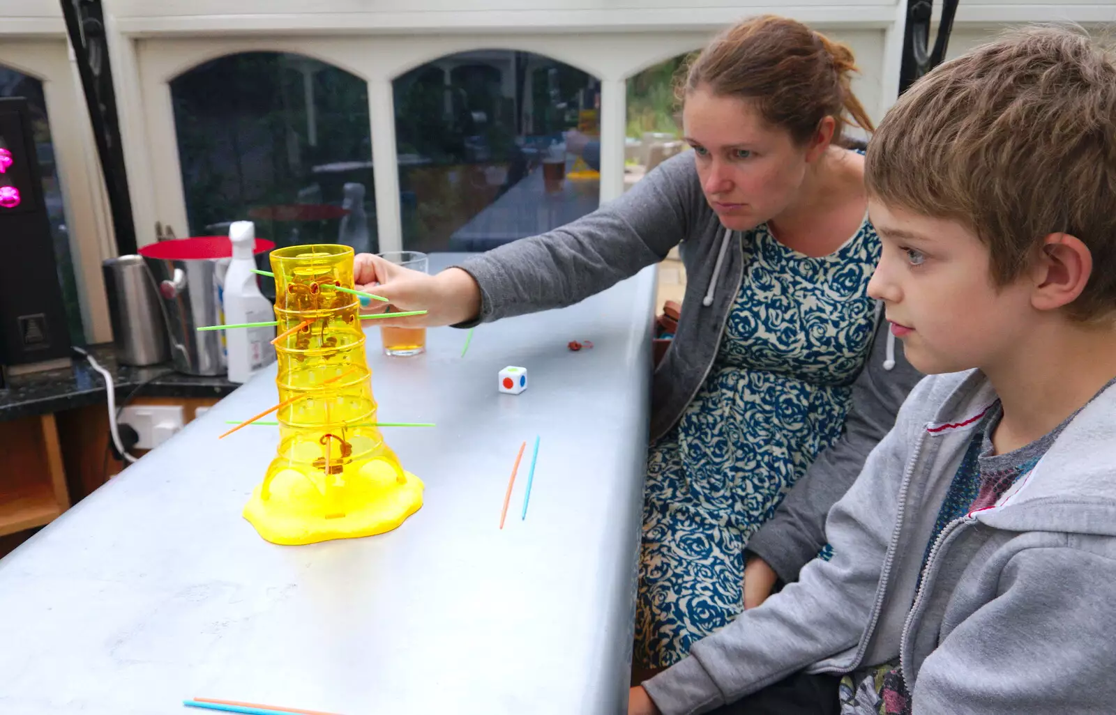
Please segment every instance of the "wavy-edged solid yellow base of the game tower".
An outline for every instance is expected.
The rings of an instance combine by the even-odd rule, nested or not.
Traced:
[[[262,484],[252,491],[244,519],[266,540],[283,545],[384,533],[422,508],[423,483],[414,474],[405,474],[406,482],[401,484],[387,464],[369,462],[355,477],[346,477],[345,484],[334,487],[335,506],[328,508],[321,473],[311,481],[297,470],[282,470],[271,481],[267,500]],[[331,515],[338,508],[344,515]]]

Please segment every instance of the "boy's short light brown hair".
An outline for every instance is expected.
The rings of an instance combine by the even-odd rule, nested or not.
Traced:
[[[1083,31],[1013,30],[940,65],[884,117],[865,174],[883,203],[971,229],[999,286],[1047,235],[1077,236],[1093,273],[1068,313],[1116,311],[1116,61]]]

